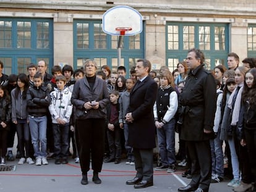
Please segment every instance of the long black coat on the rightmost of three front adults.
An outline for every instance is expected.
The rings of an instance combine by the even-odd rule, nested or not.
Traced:
[[[181,139],[203,141],[213,138],[216,84],[213,75],[204,69],[203,64],[189,72],[180,101],[183,112]],[[204,133],[203,129],[212,133]]]

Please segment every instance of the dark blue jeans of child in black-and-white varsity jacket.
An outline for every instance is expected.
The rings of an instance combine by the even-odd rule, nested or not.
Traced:
[[[175,119],[171,119],[162,128],[157,128],[159,154],[163,165],[176,163],[175,158]]]

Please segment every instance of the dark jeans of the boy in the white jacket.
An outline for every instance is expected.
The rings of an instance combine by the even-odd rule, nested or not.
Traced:
[[[57,159],[69,156],[69,123],[59,125],[53,123],[54,154]]]

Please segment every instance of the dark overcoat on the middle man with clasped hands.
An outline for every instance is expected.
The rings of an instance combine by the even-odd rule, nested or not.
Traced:
[[[157,84],[148,76],[140,83],[137,81],[130,92],[128,112],[132,112],[134,120],[128,124],[129,146],[140,149],[156,147],[153,105],[156,101],[157,91]]]

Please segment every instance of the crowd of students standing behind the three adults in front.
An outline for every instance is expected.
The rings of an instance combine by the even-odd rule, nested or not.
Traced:
[[[237,192],[255,190],[256,178],[256,61],[246,58],[242,63],[239,67],[239,57],[231,52],[228,69],[217,65],[212,70],[217,93],[213,102],[217,107],[213,127],[215,138],[210,140],[211,183],[222,182],[228,174],[224,168],[228,166],[233,175],[228,186]],[[70,140],[75,162],[79,162],[79,133],[75,128],[75,106],[71,98],[75,81],[84,77],[85,70],[74,72],[70,65],[62,69],[54,65],[50,75],[46,72],[46,62],[40,61],[38,65],[28,65],[28,75],[20,73],[8,77],[2,73],[3,67],[0,62],[0,165],[6,164],[6,158],[14,161],[15,131],[18,164],[47,165],[51,156],[54,156],[55,164],[67,164]],[[182,120],[179,119],[179,93],[186,86],[187,74],[187,64],[183,61],[172,73],[163,66],[159,75],[154,71],[149,75],[159,87],[153,109],[160,157],[155,170],[173,173],[180,165],[187,167],[182,177],[191,178],[185,141],[179,139],[179,152],[175,153],[175,133],[179,133],[179,121]],[[96,77],[105,80],[110,100],[106,108],[104,162],[119,164],[125,150],[126,164],[134,165],[133,151],[127,144],[126,112],[130,91],[137,81],[135,69],[130,69],[130,77],[126,78],[125,67],[119,66],[117,72],[111,72],[108,65],[103,65]],[[177,159],[181,161],[179,164]]]

